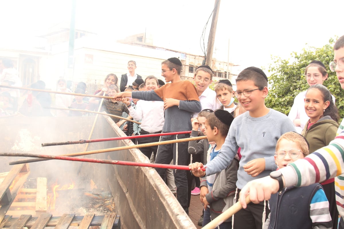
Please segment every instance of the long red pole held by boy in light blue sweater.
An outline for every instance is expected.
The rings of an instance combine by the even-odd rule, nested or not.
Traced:
[[[128,166],[140,166],[140,167],[151,167],[151,168],[171,168],[175,170],[190,170],[187,165],[166,165],[166,164],[154,164],[154,163],[143,163],[143,162],[130,162],[130,161],[114,161],[105,159],[93,159],[84,157],[68,157],[68,156],[53,156],[53,155],[43,155],[43,154],[28,154],[28,153],[0,153],[0,156],[19,156],[19,157],[38,157],[45,159],[55,159],[64,161],[81,161],[90,163],[100,163],[100,164],[111,164],[111,165],[128,165]],[[205,167],[202,167],[205,171]]]

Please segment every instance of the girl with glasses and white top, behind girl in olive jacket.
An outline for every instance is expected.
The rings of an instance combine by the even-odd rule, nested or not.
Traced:
[[[321,61],[312,61],[304,70],[304,74],[309,86],[316,84],[323,84],[327,79],[327,72],[325,65]],[[304,97],[306,91],[300,92],[294,99],[294,104],[288,114],[288,117],[293,121],[296,131],[301,133],[307,120],[309,119],[304,110]],[[333,103],[335,102],[334,96],[332,96]],[[311,151],[313,152],[313,151]]]

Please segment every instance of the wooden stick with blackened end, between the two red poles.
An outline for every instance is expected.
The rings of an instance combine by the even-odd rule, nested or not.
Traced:
[[[188,142],[188,141],[201,140],[201,139],[206,139],[206,138],[207,138],[207,136],[182,138],[182,139],[175,139],[175,140],[162,141],[162,142],[151,142],[151,143],[144,143],[144,144],[138,144],[138,145],[126,145],[126,146],[108,148],[108,149],[103,149],[103,150],[92,150],[92,151],[79,152],[79,153],[61,154],[59,156],[76,157],[76,156],[83,156],[83,155],[89,155],[89,154],[106,153],[106,152],[111,152],[111,151],[129,150],[129,149],[150,147],[150,146],[155,146],[155,145],[165,145],[165,144],[173,144],[173,143],[178,143],[178,142]],[[9,164],[10,165],[17,165],[17,164],[31,163],[31,162],[37,162],[37,161],[47,161],[47,160],[49,160],[49,159],[28,159],[28,160],[21,160],[21,161],[12,161]]]

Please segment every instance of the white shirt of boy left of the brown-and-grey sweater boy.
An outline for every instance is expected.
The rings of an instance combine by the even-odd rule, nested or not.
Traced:
[[[136,109],[128,108],[129,113],[135,121],[141,120],[141,129],[148,133],[162,130],[165,122],[165,110],[163,101],[144,101],[136,103]]]

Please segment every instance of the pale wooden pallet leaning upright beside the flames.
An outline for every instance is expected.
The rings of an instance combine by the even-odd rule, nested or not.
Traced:
[[[46,184],[46,177],[37,177],[36,188],[21,188],[6,214],[39,216],[46,212]]]

